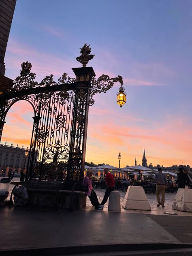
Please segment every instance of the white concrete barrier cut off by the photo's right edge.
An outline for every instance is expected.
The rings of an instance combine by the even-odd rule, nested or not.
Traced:
[[[192,212],[192,189],[179,188],[172,209]]]

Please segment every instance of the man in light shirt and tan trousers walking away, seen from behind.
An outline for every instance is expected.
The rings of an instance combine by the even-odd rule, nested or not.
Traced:
[[[165,189],[167,188],[167,180],[166,176],[162,173],[162,169],[158,168],[158,173],[155,174],[155,181],[156,181],[156,196],[157,202],[159,207],[160,205],[164,207],[165,202]],[[160,201],[160,193],[161,193],[161,201]]]

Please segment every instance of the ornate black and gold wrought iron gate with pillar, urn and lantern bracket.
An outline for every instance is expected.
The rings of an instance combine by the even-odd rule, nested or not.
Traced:
[[[81,68],[73,68],[76,78],[64,73],[57,82],[53,75],[41,83],[34,81],[30,62],[21,64],[22,70],[13,87],[0,96],[0,140],[5,117],[10,107],[19,100],[30,102],[34,109],[34,124],[28,156],[27,179],[33,173],[39,179],[60,179],[66,171],[66,179],[80,181],[83,178],[87,119],[93,95],[109,90],[114,82],[123,84],[122,77],[102,75],[95,80],[92,67],[86,64],[90,55],[88,45],[81,48],[77,61]]]

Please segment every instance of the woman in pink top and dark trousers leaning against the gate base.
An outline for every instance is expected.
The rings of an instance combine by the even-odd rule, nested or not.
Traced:
[[[103,207],[100,207],[96,192],[93,190],[91,177],[92,177],[92,171],[88,170],[86,176],[83,179],[83,186],[88,186],[88,191],[85,193],[87,196],[89,196],[90,201],[92,205],[95,207],[95,209],[102,210]]]

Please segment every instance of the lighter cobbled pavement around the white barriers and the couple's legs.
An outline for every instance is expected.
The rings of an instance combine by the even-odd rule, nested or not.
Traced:
[[[101,202],[102,198],[105,194],[105,189],[96,188],[96,189],[94,189],[94,191],[97,194],[98,201]],[[121,206],[122,206],[126,192],[121,191],[121,190],[117,190],[117,191],[119,191],[119,193],[120,193],[120,202],[121,202]],[[177,215],[180,215],[180,216],[192,216],[192,213],[176,211],[176,210],[172,209],[172,204],[173,204],[173,201],[175,200],[176,193],[165,193],[165,207],[164,208],[162,208],[161,206],[157,207],[156,194],[146,194],[146,196],[147,196],[149,205],[151,206],[151,211],[127,210],[127,209],[123,209],[123,208],[121,209],[121,211],[126,212],[126,213],[143,213],[143,214],[156,214],[156,215],[165,215],[167,213],[177,213]],[[104,211],[108,210],[108,202],[109,202],[109,199],[107,200],[107,203],[105,204],[105,207],[103,209]],[[88,197],[87,197],[87,207],[85,209],[93,209],[94,210],[94,207],[92,207],[92,204]]]

